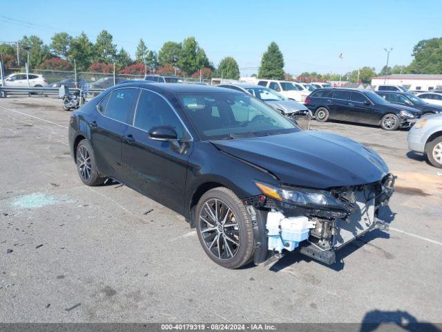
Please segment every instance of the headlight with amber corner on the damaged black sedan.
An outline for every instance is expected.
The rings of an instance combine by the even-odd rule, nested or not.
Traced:
[[[271,197],[278,201],[290,203],[304,208],[316,208],[316,209],[336,209],[346,210],[345,205],[334,199],[328,192],[323,190],[313,190],[305,188],[295,187],[276,187],[269,183],[255,182],[256,186],[265,194],[265,196]]]

